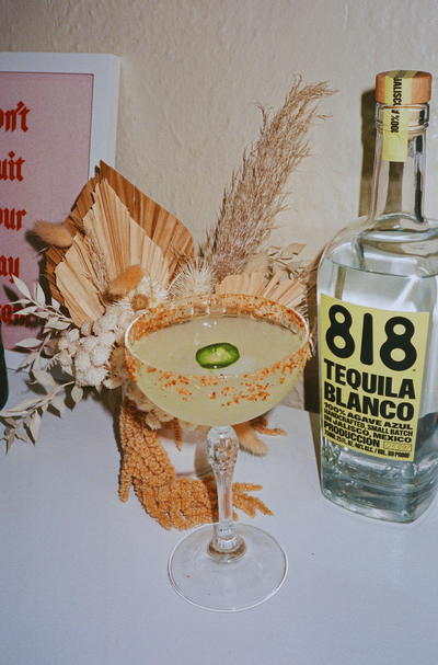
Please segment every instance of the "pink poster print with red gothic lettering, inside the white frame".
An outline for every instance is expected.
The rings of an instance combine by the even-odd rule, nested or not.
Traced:
[[[89,180],[93,74],[0,72],[0,317],[3,344],[35,336],[11,305],[33,289],[36,221],[60,222]],[[28,329],[28,330],[26,330]]]

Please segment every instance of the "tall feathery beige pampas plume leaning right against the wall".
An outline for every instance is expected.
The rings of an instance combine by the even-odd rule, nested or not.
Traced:
[[[242,273],[275,228],[275,217],[284,209],[288,194],[288,177],[310,154],[309,129],[324,117],[319,105],[333,92],[325,82],[302,85],[297,78],[274,117],[262,108],[258,140],[244,152],[242,167],[232,174],[218,222],[200,248],[218,282]]]

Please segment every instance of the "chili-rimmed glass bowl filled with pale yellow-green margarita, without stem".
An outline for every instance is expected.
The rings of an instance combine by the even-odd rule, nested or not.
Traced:
[[[268,411],[308,357],[306,323],[276,302],[211,296],[208,309],[194,300],[152,312],[128,333],[129,370],[154,404],[191,423],[233,425]],[[200,364],[199,352],[215,345],[229,345],[239,357]]]

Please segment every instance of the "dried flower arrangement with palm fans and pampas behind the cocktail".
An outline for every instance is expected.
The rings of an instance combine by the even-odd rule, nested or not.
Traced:
[[[36,225],[47,245],[51,297],[39,284],[32,296],[22,280],[14,282],[23,296],[21,313],[43,323],[41,339],[20,343],[28,351],[20,367],[28,369],[45,394],[0,412],[7,451],[15,438],[36,443],[42,416],[49,406],[62,414],[68,394],[78,403],[84,389],[105,389],[115,406],[123,387],[120,498],[128,498],[132,484],[145,509],[165,528],[215,519],[211,480],[176,478],[157,434],[164,425],[172,427],[181,446],[182,429],[194,426],[164,413],[130,380],[125,331],[139,313],[160,302],[210,293],[258,295],[306,310],[309,275],[297,261],[302,245],[284,251],[266,245],[284,209],[288,177],[309,154],[309,129],[322,117],[319,105],[330,94],[326,83],[303,85],[297,79],[279,112],[269,117],[262,110],[258,140],[232,174],[218,222],[197,253],[175,217],[103,162],[62,225]],[[71,380],[57,381],[55,367]],[[266,452],[255,429],[281,434],[260,419],[237,429],[241,446],[255,455]],[[269,514],[249,494],[258,489],[235,483],[234,506],[249,515],[256,509]]]

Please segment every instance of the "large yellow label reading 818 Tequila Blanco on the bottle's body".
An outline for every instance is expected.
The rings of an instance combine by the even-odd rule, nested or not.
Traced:
[[[378,458],[413,461],[428,312],[321,295],[323,436]]]

